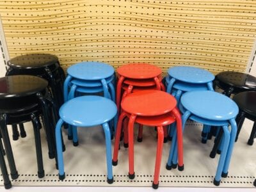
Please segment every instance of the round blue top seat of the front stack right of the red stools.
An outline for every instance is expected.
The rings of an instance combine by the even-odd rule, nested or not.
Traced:
[[[180,102],[193,115],[209,120],[230,120],[239,111],[233,100],[212,91],[186,92]]]

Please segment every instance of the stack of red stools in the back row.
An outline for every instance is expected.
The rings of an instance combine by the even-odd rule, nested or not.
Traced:
[[[133,86],[156,86],[157,90],[165,91],[161,83],[161,68],[147,63],[131,63],[122,65],[116,72],[118,73],[118,83],[116,86],[116,106],[120,112],[120,101],[122,85],[127,84],[127,93],[132,92]]]

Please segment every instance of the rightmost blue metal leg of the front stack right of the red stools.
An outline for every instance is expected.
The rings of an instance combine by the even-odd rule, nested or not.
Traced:
[[[228,167],[230,164],[230,159],[231,159],[231,155],[233,152],[234,143],[236,140],[236,133],[237,133],[236,120],[234,118],[232,118],[229,122],[231,124],[230,142],[228,145],[227,157],[225,159],[225,164],[224,164],[223,172],[221,175],[222,177],[227,177],[227,175],[228,175]],[[222,154],[222,152],[221,152],[221,154]]]

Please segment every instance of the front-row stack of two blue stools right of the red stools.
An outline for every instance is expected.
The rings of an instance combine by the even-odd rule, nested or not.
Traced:
[[[214,178],[214,184],[220,185],[221,177],[227,177],[228,166],[236,139],[236,103],[220,93],[212,91],[195,91],[184,93],[180,99],[182,112],[182,131],[189,119],[204,125],[221,126],[223,128],[223,148]],[[228,126],[231,125],[230,131]],[[176,145],[176,133],[173,134],[173,143]],[[172,145],[166,168],[170,170],[177,164],[177,147]]]

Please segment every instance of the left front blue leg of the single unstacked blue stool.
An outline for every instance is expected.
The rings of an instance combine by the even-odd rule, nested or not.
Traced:
[[[55,139],[56,139],[56,149],[57,149],[57,157],[58,157],[58,168],[59,168],[59,179],[65,179],[64,172],[64,163],[63,163],[63,154],[62,154],[62,141],[61,141],[61,126],[63,124],[63,120],[58,120],[55,129]]]

